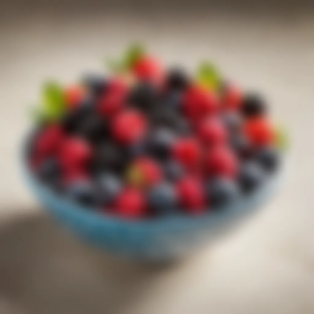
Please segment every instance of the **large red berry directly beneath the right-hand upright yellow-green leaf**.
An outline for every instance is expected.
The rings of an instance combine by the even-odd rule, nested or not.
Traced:
[[[201,86],[191,86],[185,92],[183,108],[186,115],[197,122],[198,120],[215,113],[218,110],[216,96]]]

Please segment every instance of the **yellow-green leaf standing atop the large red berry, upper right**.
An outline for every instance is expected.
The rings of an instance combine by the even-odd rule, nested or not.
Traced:
[[[198,67],[196,80],[208,89],[218,89],[221,78],[217,68],[210,62],[203,62]]]

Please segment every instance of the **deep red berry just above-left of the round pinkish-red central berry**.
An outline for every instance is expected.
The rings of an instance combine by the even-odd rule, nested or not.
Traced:
[[[112,117],[123,109],[125,100],[126,93],[118,90],[108,91],[100,96],[97,109],[102,116]]]

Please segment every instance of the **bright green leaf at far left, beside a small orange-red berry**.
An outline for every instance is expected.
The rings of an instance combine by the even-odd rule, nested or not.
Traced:
[[[44,84],[42,91],[43,110],[48,119],[59,119],[65,111],[65,95],[62,87],[53,81]]]

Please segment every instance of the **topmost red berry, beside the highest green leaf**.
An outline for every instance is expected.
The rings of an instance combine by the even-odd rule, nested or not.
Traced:
[[[133,72],[139,80],[160,83],[164,70],[154,58],[142,57],[135,63]]]

